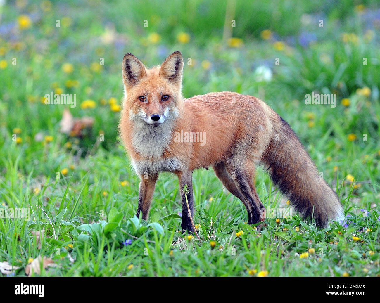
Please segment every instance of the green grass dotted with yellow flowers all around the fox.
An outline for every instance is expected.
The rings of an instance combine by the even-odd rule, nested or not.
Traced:
[[[165,5],[165,10],[160,2],[92,3],[52,2],[50,9],[47,2],[44,9],[12,3],[0,8],[0,67],[6,62],[0,69],[0,207],[32,212],[30,221],[0,219],[0,262],[20,267],[17,276],[25,275],[28,260],[38,256],[57,264],[41,271],[48,276],[380,274],[380,43],[376,20],[369,16],[380,10],[375,1],[355,2],[363,3],[364,11],[345,1],[317,1],[314,6],[238,2],[232,35],[241,39],[239,47],[222,39],[226,3],[180,1]],[[32,22],[19,30],[22,14]],[[315,23],[302,23],[304,14]],[[323,28],[318,27],[320,19]],[[110,24],[115,32],[105,30]],[[265,29],[272,33],[268,40],[261,38]],[[188,43],[177,40],[180,32],[190,35]],[[313,33],[316,41],[301,46],[296,41],[305,32]],[[159,41],[152,33],[160,35]],[[275,41],[283,49],[274,47]],[[291,125],[339,194],[350,215],[348,227],[318,229],[294,213],[279,218],[278,224],[276,218],[267,219],[259,233],[245,224],[243,204],[223,190],[212,170],[204,169],[193,174],[194,222],[201,225],[202,243],[181,234],[174,175],[160,175],[148,221],[134,217],[139,179],[120,145],[120,112],[111,110],[109,99],[120,104],[123,97],[120,65],[125,53],[153,66],[174,50],[185,61],[185,97],[225,90],[255,95]],[[99,65],[100,58],[104,65]],[[186,64],[188,58],[192,65]],[[73,72],[65,73],[64,63]],[[272,70],[268,82],[256,77],[261,65]],[[67,80],[78,85],[70,87]],[[67,106],[41,102],[57,88],[77,95],[77,106],[70,109],[74,117],[94,118],[83,137],[60,133]],[[306,105],[305,94],[311,92],[336,94],[337,106]],[[342,104],[344,98],[348,106]],[[96,106],[81,108],[86,99]],[[356,139],[349,140],[350,134]],[[265,206],[288,207],[261,169],[256,188]],[[40,241],[32,231],[41,229]],[[243,234],[238,237],[239,231]],[[131,244],[122,244],[125,240]],[[300,258],[310,248],[315,253]]]

